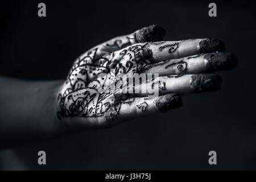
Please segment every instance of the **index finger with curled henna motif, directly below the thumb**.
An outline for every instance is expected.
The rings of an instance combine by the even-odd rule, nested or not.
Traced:
[[[136,63],[159,63],[164,60],[178,59],[200,53],[221,52],[224,43],[217,39],[189,39],[181,41],[161,41],[138,43],[113,52],[114,59],[123,63],[135,57]],[[131,56],[130,56],[131,55]],[[134,56],[133,56],[134,55]],[[124,57],[126,56],[126,57]]]

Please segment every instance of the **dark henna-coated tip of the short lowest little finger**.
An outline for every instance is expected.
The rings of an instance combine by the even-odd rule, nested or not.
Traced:
[[[177,94],[166,94],[164,96],[160,96],[155,102],[156,107],[158,107],[159,111],[163,113],[183,105],[182,98]]]

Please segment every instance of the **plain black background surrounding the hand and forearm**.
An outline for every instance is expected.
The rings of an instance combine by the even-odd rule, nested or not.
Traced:
[[[47,17],[38,17],[38,3]],[[216,1],[215,1],[216,2]],[[117,35],[158,24],[165,40],[218,38],[240,63],[222,90],[184,97],[167,114],[0,151],[2,169],[256,169],[255,6],[210,1],[1,1],[0,74],[64,79],[73,61]],[[1,87],[4,85],[1,85]],[[39,166],[38,151],[47,153]],[[217,165],[208,152],[217,152]]]

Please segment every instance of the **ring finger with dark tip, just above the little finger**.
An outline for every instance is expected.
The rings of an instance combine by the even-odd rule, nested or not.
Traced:
[[[134,80],[139,80],[135,78]],[[155,96],[167,93],[189,94],[217,91],[221,88],[222,78],[213,74],[199,75],[177,75],[156,77],[151,81],[142,81],[141,84],[130,82],[127,92],[131,97],[146,97],[154,94]],[[126,92],[125,88],[122,88]]]

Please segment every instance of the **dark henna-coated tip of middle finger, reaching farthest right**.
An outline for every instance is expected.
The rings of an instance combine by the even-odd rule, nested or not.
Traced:
[[[238,59],[234,53],[209,53],[204,55],[208,73],[231,70],[237,67]]]

